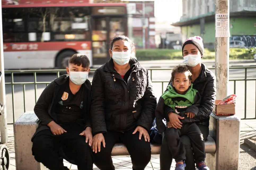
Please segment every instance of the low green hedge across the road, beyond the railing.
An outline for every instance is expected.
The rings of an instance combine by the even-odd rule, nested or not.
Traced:
[[[254,59],[256,48],[230,48],[229,59]],[[143,60],[183,59],[181,50],[174,49],[136,49],[136,57]],[[214,49],[205,49],[203,59],[215,59]]]

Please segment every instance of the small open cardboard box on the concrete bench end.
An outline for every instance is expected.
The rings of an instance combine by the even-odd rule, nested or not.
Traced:
[[[213,113],[217,116],[227,116],[236,114],[235,104],[218,105],[221,100],[216,100],[213,107]]]

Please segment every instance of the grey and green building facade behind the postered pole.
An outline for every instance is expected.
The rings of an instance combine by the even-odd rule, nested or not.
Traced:
[[[215,1],[183,0],[183,15],[173,26],[180,26],[182,41],[199,35],[207,48],[215,43]],[[256,47],[256,0],[229,0],[230,45]]]

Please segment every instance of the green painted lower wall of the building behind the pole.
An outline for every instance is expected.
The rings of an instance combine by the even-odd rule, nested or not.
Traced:
[[[230,29],[232,35],[256,35],[255,18],[230,18]],[[200,36],[200,25],[181,27],[183,37]],[[214,43],[215,41],[215,23],[205,23],[205,34],[202,36],[204,43]]]

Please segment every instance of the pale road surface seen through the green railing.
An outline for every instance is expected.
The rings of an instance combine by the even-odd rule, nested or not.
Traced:
[[[157,61],[155,61],[157,62]],[[241,64],[241,63],[240,63]],[[142,63],[142,65],[145,65]],[[212,70],[214,72],[214,70]],[[256,79],[256,69],[248,69],[247,70],[247,78]],[[244,79],[245,70],[244,69],[230,69],[229,70],[229,79]],[[167,82],[169,82],[171,76],[171,70],[153,70],[152,71],[152,81],[166,81],[164,83],[164,89],[167,86]],[[56,78],[55,74],[41,74],[37,75],[37,82],[51,82],[54,78]],[[89,80],[92,81],[92,74],[89,76]],[[33,82],[33,75],[14,75],[14,82]],[[6,82],[11,82],[10,75],[6,75]],[[234,93],[234,82],[229,82],[229,92],[228,94]],[[40,96],[43,89],[46,85],[39,84],[37,85],[37,99]],[[255,117],[255,89],[256,83],[255,80],[247,81],[247,104],[246,104],[246,117],[254,118]],[[162,84],[153,82],[153,90],[155,95],[158,98],[162,94]],[[244,108],[245,108],[245,83],[244,81],[236,82],[236,95],[238,96],[236,102],[236,114],[241,118],[244,118]],[[24,113],[24,100],[23,100],[23,86],[22,85],[14,85],[14,111],[15,111],[15,119],[17,120]],[[33,84],[28,84],[25,86],[25,110],[32,111],[35,105],[35,90]],[[6,107],[7,107],[7,122],[13,122],[12,116],[12,89],[11,85],[6,85]]]

